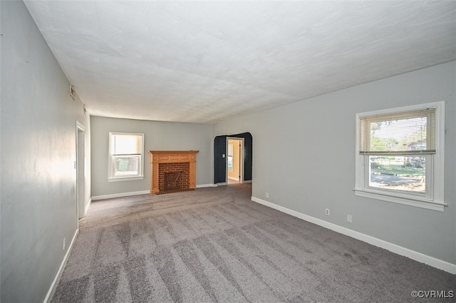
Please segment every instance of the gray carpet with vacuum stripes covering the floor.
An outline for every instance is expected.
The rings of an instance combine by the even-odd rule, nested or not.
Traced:
[[[455,275],[259,205],[251,190],[93,202],[53,302],[427,302],[411,292],[455,291]]]

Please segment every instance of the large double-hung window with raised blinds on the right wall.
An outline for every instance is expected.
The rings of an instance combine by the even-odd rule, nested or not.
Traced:
[[[445,102],[356,114],[356,195],[443,211]]]

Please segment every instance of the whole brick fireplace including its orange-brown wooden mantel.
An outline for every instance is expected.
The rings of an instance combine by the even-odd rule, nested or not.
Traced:
[[[198,150],[149,150],[152,180],[150,193],[195,190]]]

